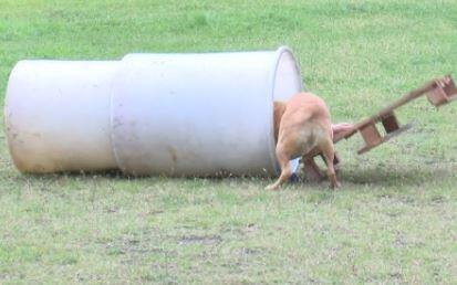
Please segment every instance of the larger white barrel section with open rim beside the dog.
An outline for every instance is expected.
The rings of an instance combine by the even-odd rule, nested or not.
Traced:
[[[301,89],[291,52],[129,54],[113,85],[113,149],[135,175],[277,172],[273,98]]]

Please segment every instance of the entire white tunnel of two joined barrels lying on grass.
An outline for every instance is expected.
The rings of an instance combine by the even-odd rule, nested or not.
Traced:
[[[301,88],[287,48],[22,61],[8,84],[8,142],[24,172],[270,176],[273,99]]]

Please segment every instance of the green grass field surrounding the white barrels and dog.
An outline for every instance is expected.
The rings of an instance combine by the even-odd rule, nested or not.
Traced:
[[[0,0],[0,91],[23,59],[289,45],[333,120],[457,76],[456,0]],[[457,104],[357,156],[343,184],[24,176],[0,145],[0,283],[457,284]]]

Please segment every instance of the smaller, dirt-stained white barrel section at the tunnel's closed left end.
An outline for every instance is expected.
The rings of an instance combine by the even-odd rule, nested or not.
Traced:
[[[21,61],[4,104],[8,146],[22,172],[117,168],[110,96],[118,62]]]

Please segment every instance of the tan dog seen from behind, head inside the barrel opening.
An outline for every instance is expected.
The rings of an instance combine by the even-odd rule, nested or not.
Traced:
[[[311,158],[307,154],[319,148],[325,157],[330,187],[340,187],[333,167],[334,149],[333,133],[347,129],[350,124],[335,125],[332,129],[330,113],[325,103],[311,93],[299,93],[289,102],[274,102],[274,139],[277,140],[277,159],[281,167],[279,179],[267,187],[278,189],[288,181],[292,171],[289,167],[291,159],[302,157],[303,162]]]

